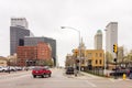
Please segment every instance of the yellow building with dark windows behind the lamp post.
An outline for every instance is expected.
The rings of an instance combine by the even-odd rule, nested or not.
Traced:
[[[81,52],[81,55],[84,53],[84,56],[80,57],[80,66],[81,68],[103,68],[105,66],[105,52],[103,50],[86,50],[85,52]],[[73,59],[76,59],[78,57],[78,50],[76,50],[73,54]],[[78,59],[76,59],[76,66],[78,66],[79,63],[77,63]],[[78,61],[79,62],[79,61]]]

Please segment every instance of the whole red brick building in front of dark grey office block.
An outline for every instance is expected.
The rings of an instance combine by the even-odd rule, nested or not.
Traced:
[[[18,46],[16,53],[19,66],[35,66],[37,61],[52,58],[51,47],[44,42],[36,46]]]

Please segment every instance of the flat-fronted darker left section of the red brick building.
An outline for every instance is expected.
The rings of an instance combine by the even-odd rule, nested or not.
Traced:
[[[18,46],[18,65],[19,66],[34,66],[37,59],[36,46]]]

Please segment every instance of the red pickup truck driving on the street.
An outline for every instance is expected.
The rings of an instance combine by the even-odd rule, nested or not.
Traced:
[[[36,76],[41,76],[41,77],[51,77],[52,72],[48,68],[44,68],[44,67],[35,67],[32,70],[32,75],[35,78]]]

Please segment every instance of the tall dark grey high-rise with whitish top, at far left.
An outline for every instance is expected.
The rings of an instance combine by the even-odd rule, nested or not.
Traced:
[[[22,21],[21,21],[22,20]],[[25,22],[25,23],[24,23]],[[10,55],[16,53],[18,46],[24,45],[24,36],[30,36],[25,19],[11,19],[10,26]]]

